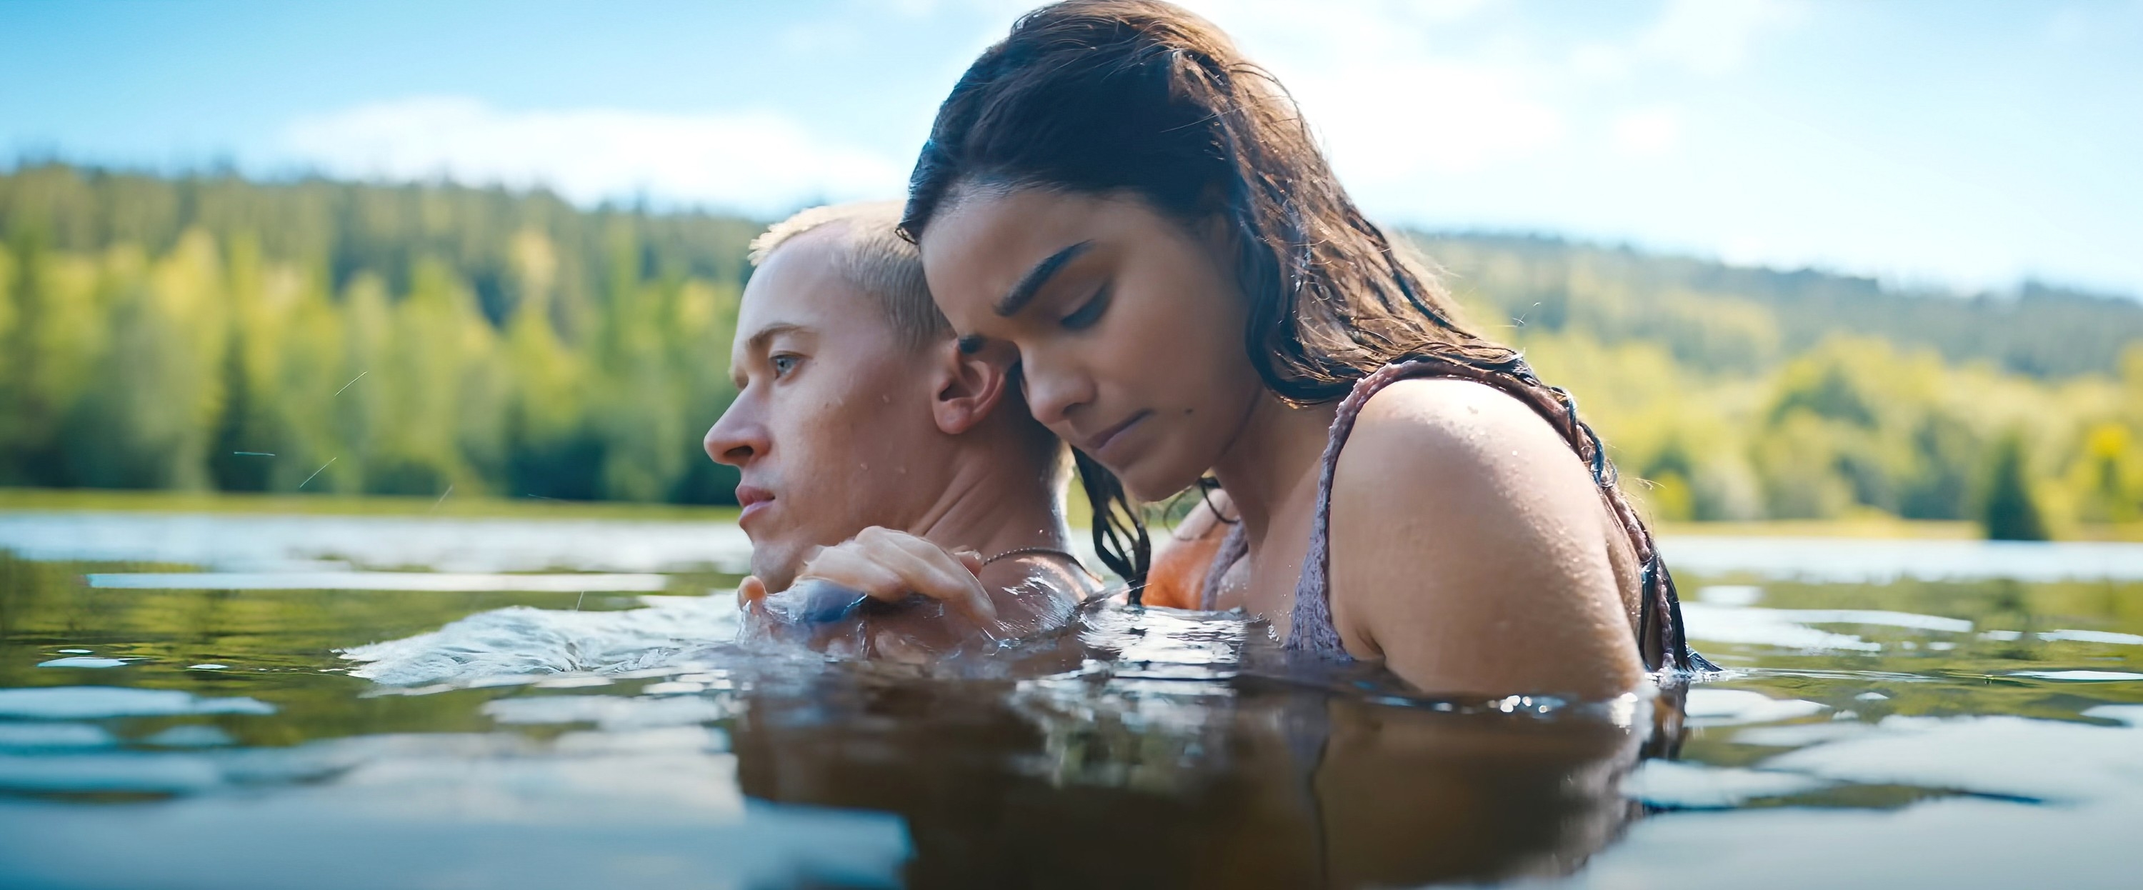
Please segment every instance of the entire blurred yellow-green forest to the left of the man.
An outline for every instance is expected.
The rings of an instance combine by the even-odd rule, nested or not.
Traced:
[[[754,225],[456,187],[0,176],[0,483],[720,502]]]

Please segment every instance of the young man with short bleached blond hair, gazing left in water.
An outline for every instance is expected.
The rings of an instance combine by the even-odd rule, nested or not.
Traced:
[[[752,242],[737,401],[705,446],[741,472],[739,603],[765,613],[799,579],[921,594],[941,607],[819,615],[909,656],[1054,626],[1099,583],[1067,553],[1063,444],[1029,416],[1009,352],[960,352],[898,219],[891,202],[812,208]]]

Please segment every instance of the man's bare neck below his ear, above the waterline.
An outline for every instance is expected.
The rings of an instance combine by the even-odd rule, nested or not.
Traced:
[[[1003,448],[962,444],[951,457],[951,483],[909,528],[911,534],[945,549],[973,549],[992,558],[1020,547],[1065,549],[1065,521],[1056,491],[1029,461],[1005,459]]]

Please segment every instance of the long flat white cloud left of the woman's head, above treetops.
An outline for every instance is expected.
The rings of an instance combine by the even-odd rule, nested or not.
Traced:
[[[583,204],[654,195],[746,212],[891,197],[906,174],[771,112],[504,112],[454,97],[306,116],[285,129],[283,148],[339,176],[540,184]]]

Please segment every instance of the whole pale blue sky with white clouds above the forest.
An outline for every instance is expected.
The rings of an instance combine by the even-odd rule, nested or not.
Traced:
[[[0,150],[894,197],[1024,2],[0,4]],[[2143,0],[1209,0],[1372,214],[2143,294]]]

